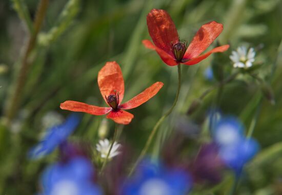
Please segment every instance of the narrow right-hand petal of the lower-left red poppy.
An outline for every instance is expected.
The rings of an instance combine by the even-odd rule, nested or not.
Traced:
[[[131,109],[136,108],[137,106],[140,106],[141,104],[144,104],[148,100],[150,100],[157,92],[164,86],[164,83],[162,82],[156,82],[147,89],[145,89],[143,92],[139,93],[135,97],[133,97],[131,100],[127,101],[126,103],[120,105],[120,108],[122,109]]]

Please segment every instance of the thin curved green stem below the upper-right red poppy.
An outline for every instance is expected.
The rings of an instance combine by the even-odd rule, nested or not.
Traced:
[[[160,126],[160,124],[163,123],[163,121],[165,120],[165,118],[170,115],[170,113],[173,111],[176,103],[177,103],[177,100],[178,100],[178,96],[179,96],[179,92],[180,92],[180,88],[181,88],[181,67],[180,67],[180,64],[177,65],[177,70],[178,70],[178,87],[177,87],[177,92],[176,92],[176,96],[175,96],[175,99],[174,99],[174,102],[171,106],[171,108],[162,116],[158,119],[156,125],[154,126],[151,134],[149,135],[149,138],[145,144],[145,147],[144,149],[142,150],[142,152],[140,153],[139,157],[137,158],[136,162],[134,163],[134,165],[132,166],[131,170],[130,170],[130,173],[129,173],[129,176],[132,175],[132,173],[134,172],[137,164],[139,164],[139,162],[143,159],[143,157],[145,156],[145,154],[147,153],[149,147],[150,147],[150,144],[153,140],[153,137],[154,135],[156,134],[157,130],[158,130],[158,127]]]

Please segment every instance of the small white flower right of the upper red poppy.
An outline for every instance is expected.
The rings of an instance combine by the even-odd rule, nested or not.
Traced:
[[[247,53],[246,46],[240,46],[237,48],[237,52],[232,51],[232,55],[229,58],[232,60],[234,68],[249,68],[255,61],[255,51],[254,48],[251,47]]]

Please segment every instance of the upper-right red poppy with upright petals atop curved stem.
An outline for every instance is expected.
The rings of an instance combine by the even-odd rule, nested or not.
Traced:
[[[187,42],[179,41],[176,27],[165,10],[152,9],[147,15],[147,26],[154,44],[149,40],[143,40],[143,44],[147,48],[155,50],[160,58],[170,66],[179,63],[193,65],[204,60],[212,53],[225,52],[229,48],[229,45],[223,45],[200,55],[223,31],[223,25],[216,21],[210,21],[203,25],[189,46]]]

